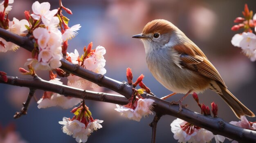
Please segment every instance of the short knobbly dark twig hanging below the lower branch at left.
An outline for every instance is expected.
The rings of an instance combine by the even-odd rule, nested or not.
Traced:
[[[23,107],[21,108],[20,112],[16,112],[13,116],[13,118],[17,119],[22,115],[27,114],[27,109],[29,108],[29,103],[31,101],[31,98],[34,96],[36,89],[29,88],[29,94],[27,95],[26,102],[22,103]]]

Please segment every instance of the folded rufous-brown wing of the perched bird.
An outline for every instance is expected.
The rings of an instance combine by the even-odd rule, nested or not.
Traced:
[[[211,64],[200,48],[195,48],[195,44],[186,43],[186,46],[173,46],[180,54],[180,65],[189,70],[196,71],[204,77],[220,82],[224,87],[227,87],[220,77],[218,70]],[[190,48],[188,48],[190,47]]]

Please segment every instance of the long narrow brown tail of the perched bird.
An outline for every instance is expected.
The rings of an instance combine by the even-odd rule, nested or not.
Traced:
[[[226,87],[218,83],[222,92],[217,92],[218,95],[229,105],[229,107],[236,114],[236,117],[240,119],[240,116],[247,115],[249,117],[255,117],[255,114],[249,110],[243,103],[241,103]]]

